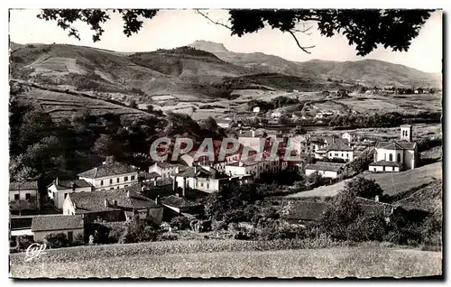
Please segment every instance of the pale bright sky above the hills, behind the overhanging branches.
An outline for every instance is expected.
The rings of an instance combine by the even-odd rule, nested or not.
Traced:
[[[155,51],[188,45],[197,40],[223,43],[227,50],[235,52],[263,52],[280,56],[287,60],[385,60],[402,64],[426,72],[442,71],[442,12],[431,14],[421,28],[419,36],[410,45],[409,51],[391,51],[378,47],[365,57],[356,56],[353,46],[349,46],[343,35],[331,38],[320,36],[316,26],[310,35],[299,34],[303,46],[315,45],[311,54],[301,51],[289,33],[271,28],[262,29],[243,37],[231,36],[230,31],[220,25],[210,23],[193,10],[164,10],[152,20],[145,20],[138,34],[127,38],[123,33],[123,22],[119,15],[113,14],[104,24],[105,32],[100,42],[92,42],[92,32],[84,23],[75,23],[81,41],[69,37],[56,22],[47,22],[36,17],[39,10],[10,11],[10,40],[25,43],[67,43],[102,48],[112,51]],[[225,10],[204,11],[218,22],[226,23]]]

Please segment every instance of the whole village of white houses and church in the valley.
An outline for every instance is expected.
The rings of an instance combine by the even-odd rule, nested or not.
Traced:
[[[154,162],[144,171],[121,162],[104,162],[79,173],[76,179],[55,178],[47,186],[44,196],[38,190],[37,181],[11,182],[12,245],[16,241],[20,245],[23,239],[19,238],[43,242],[56,235],[65,236],[69,245],[76,242],[105,244],[99,239],[101,231],[93,229],[99,222],[106,227],[130,222],[139,226],[152,224],[170,234],[186,228],[192,234],[210,232],[211,236],[212,218],[206,217],[202,199],[230,189],[230,186],[262,183],[271,175],[317,178],[315,182],[307,181],[304,190],[335,184],[362,172],[351,166],[367,151],[373,151],[373,159],[367,163],[364,173],[401,172],[419,166],[418,144],[412,141],[412,125],[401,125],[396,141],[367,140],[348,132],[332,136],[297,134],[298,130],[274,134],[239,123],[235,138],[239,148],[234,153],[227,153],[223,159],[217,157],[220,141],[216,141],[218,148],[213,159],[190,151],[179,155],[176,161],[168,158]],[[272,139],[279,140],[277,149],[272,148]],[[271,156],[274,150],[277,154]],[[292,186],[289,190],[292,190],[290,193],[298,192]],[[275,207],[276,212],[289,222],[287,224],[294,226],[318,220],[321,210],[326,208],[324,204],[319,204],[318,208],[316,202],[290,198],[269,196],[267,199],[281,201]],[[365,200],[373,200],[370,204],[373,207],[379,205],[384,212],[387,206],[391,207],[391,213],[400,209],[379,202],[378,196],[361,200],[364,205],[369,204]],[[46,211],[41,212],[43,209]],[[185,225],[179,222],[185,222]],[[237,234],[242,232],[235,233],[235,237]],[[219,232],[216,232],[217,236]]]

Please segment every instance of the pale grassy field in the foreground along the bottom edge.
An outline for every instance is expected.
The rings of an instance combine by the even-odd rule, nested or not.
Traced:
[[[236,241],[235,241],[236,242]],[[220,241],[216,245],[229,245]],[[31,262],[23,254],[12,255],[14,278],[36,277],[412,277],[442,274],[442,254],[413,249],[361,245],[324,249],[273,251],[192,252],[207,241],[178,241],[186,251],[153,254],[155,242],[127,245],[143,248],[142,254],[115,255],[115,245],[81,246],[48,250]],[[237,245],[242,245],[237,242]],[[245,243],[244,243],[245,244]],[[101,248],[99,248],[101,247]],[[108,247],[111,247],[109,249]],[[91,249],[92,256],[87,253]],[[158,248],[157,248],[158,249]],[[182,248],[183,249],[183,248]],[[77,254],[81,251],[79,254]],[[80,255],[81,254],[81,255]],[[62,256],[61,256],[62,255]],[[73,256],[72,256],[73,255]],[[68,260],[64,260],[63,258]],[[70,257],[70,259],[69,259]]]

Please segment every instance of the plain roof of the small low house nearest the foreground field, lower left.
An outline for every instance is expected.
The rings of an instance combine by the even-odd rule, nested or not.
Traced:
[[[41,215],[32,218],[32,232],[83,228],[80,215]]]

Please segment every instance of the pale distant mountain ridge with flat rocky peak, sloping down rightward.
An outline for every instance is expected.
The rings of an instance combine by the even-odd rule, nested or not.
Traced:
[[[441,88],[441,75],[427,73],[382,60],[331,61],[308,60],[295,62],[281,57],[257,53],[227,51],[215,42],[197,41],[189,44],[199,50],[209,51],[219,59],[244,67],[258,68],[296,77],[316,79],[343,79],[367,86],[427,86]]]

